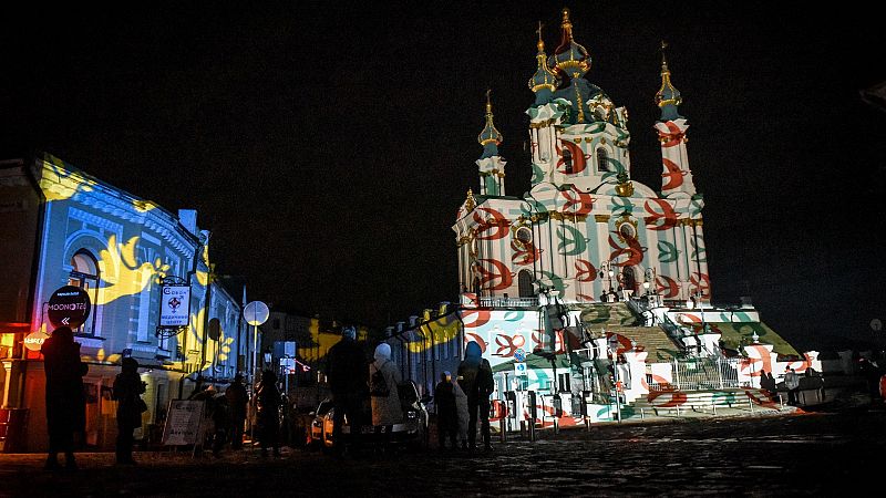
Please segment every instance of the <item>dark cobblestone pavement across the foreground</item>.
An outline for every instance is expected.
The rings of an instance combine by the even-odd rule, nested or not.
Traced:
[[[834,496],[878,481],[886,409],[612,424],[512,438],[490,454],[333,458],[296,449],[220,458],[80,454],[76,473],[42,470],[43,455],[0,455],[3,496]]]

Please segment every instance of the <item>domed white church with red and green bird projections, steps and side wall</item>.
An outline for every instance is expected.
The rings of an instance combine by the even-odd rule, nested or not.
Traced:
[[[631,179],[628,112],[590,82],[591,56],[576,41],[569,11],[550,53],[542,34],[528,81],[532,163],[522,167],[532,168],[529,188],[506,191],[504,137],[487,92],[480,186],[467,190],[453,226],[460,302],[389,329],[403,374],[431,391],[476,341],[496,372],[499,400],[535,391],[557,405],[597,404],[595,416],[606,418],[615,387],[626,401],[680,380],[688,388],[689,375],[679,375],[686,362],[708,365],[697,371],[722,387],[721,369],[735,388],[759,386],[762,370],[781,374],[785,364],[802,371],[815,362],[750,303],[711,302],[704,199],[664,44],[661,80],[650,82],[661,112],[648,141],[661,151],[662,181],[653,188]]]

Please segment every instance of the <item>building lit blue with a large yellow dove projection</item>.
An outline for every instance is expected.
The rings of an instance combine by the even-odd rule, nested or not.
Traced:
[[[198,228],[196,211],[171,212],[49,154],[0,163],[0,199],[8,277],[0,290],[0,385],[3,408],[29,411],[29,450],[47,445],[39,349],[61,324],[52,323],[52,303],[62,288],[85,295],[89,310],[83,323],[65,322],[76,323],[89,364],[87,445],[113,446],[111,386],[124,356],[138,361],[147,384],[145,429],[162,422],[169,400],[190,393],[198,375],[224,384],[245,369],[241,307],[215,279],[210,232]]]

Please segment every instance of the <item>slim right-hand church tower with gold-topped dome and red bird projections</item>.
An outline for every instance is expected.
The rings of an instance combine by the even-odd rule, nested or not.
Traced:
[[[671,72],[664,59],[667,44],[661,42],[661,87],[656,93],[656,104],[661,108],[661,118],[656,123],[658,139],[661,143],[661,195],[666,198],[692,197],[696,185],[689,170],[686,136],[689,123],[678,113],[683,102],[680,91],[671,83]]]

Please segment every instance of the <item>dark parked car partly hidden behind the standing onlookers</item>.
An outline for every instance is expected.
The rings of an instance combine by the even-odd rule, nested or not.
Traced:
[[[403,421],[399,424],[394,424],[391,427],[391,436],[388,438],[388,440],[391,444],[404,445],[411,448],[426,447],[429,438],[429,417],[425,404],[427,403],[429,398],[419,397],[419,390],[415,386],[415,383],[412,381],[401,382],[398,385],[396,391],[400,394],[400,404],[403,407]],[[371,422],[372,413],[369,398],[365,400],[363,406],[363,421]],[[323,416],[322,438],[324,448],[331,448],[334,444],[332,438],[332,429],[334,428],[333,417],[334,407],[327,412],[327,414]],[[365,423],[361,425],[361,434],[357,437],[361,437],[362,443],[373,444],[382,437],[384,434],[383,430],[383,426],[373,426],[371,423]],[[342,427],[341,433],[342,437],[346,438],[344,444],[350,444],[354,435],[351,434],[350,425],[347,419],[344,421],[344,427]]]

